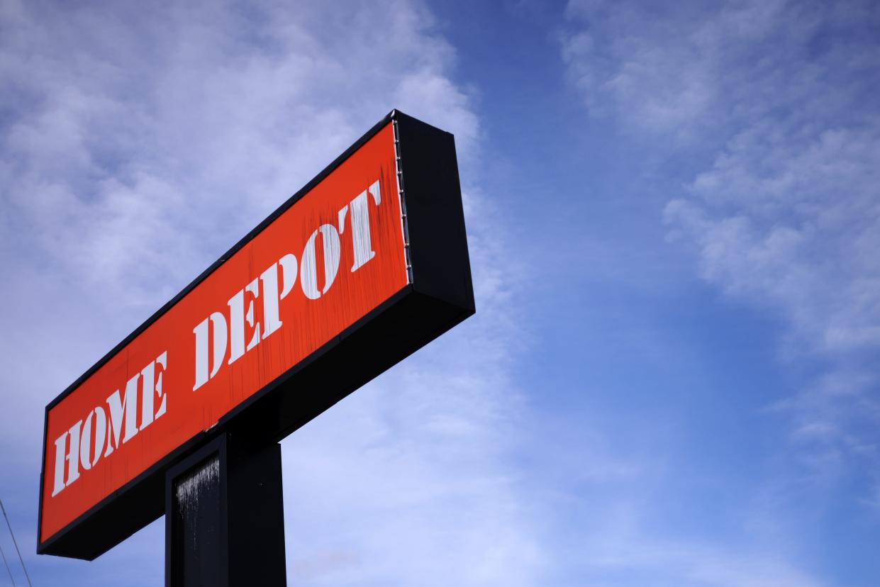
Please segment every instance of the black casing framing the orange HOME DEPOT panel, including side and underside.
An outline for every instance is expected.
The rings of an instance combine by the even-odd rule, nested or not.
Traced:
[[[405,197],[401,204],[407,221],[410,283],[233,407],[216,426],[181,444],[70,524],[41,540],[49,410],[389,123],[395,125],[395,138],[399,140],[396,146],[402,174],[400,187]],[[92,561],[162,516],[165,471],[221,432],[236,431],[256,442],[277,442],[474,312],[454,137],[400,110],[392,110],[49,402],[43,422],[37,553]],[[297,393],[285,393],[292,387],[297,388]]]

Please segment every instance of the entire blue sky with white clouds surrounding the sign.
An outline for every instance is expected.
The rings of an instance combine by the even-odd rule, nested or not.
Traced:
[[[394,107],[478,313],[282,442],[291,585],[880,583],[872,3],[0,0],[0,80],[34,584],[162,583],[33,554],[43,407]]]

